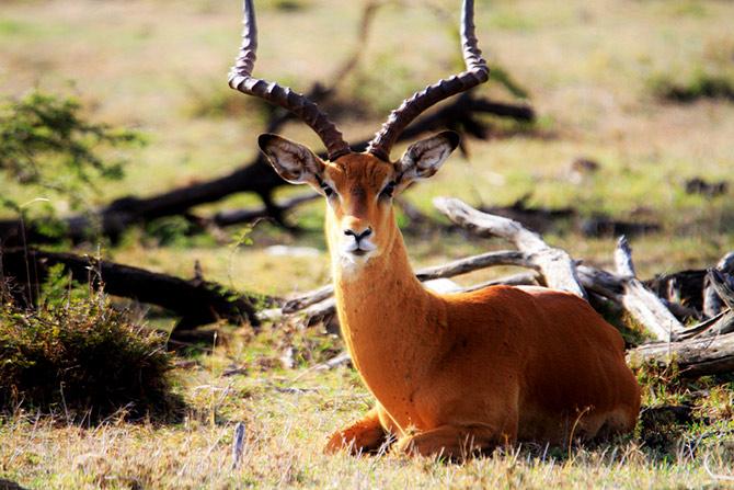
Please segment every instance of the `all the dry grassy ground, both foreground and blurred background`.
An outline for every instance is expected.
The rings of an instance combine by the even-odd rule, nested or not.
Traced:
[[[351,49],[359,3],[301,0],[291,2],[302,7],[295,10],[284,9],[284,3],[257,2],[256,71],[306,89],[328,78],[335,60]],[[409,1],[378,13],[366,57],[345,80],[342,95],[363,102],[377,98],[377,103],[344,121],[348,138],[371,134],[403,96],[455,68],[452,33],[423,3]],[[434,3],[455,12],[459,2]],[[535,205],[657,220],[661,232],[632,241],[642,276],[710,265],[734,249],[734,205],[726,195],[687,195],[684,182],[696,175],[730,178],[734,104],[706,98],[676,104],[662,100],[660,88],[695,86],[691,80],[701,77],[732,83],[733,16],[734,4],[721,1],[574,0],[552,8],[540,0],[479,1],[481,45],[528,90],[540,114],[538,127],[529,135],[470,141],[469,159],[454,157],[409,198],[433,213],[431,200],[437,195],[502,205],[530,193]],[[248,160],[262,126],[261,115],[249,111],[252,105],[226,87],[239,30],[238,1],[5,1],[0,13],[0,93],[20,95],[38,87],[76,94],[95,121],[148,135],[149,145],[129,155],[127,178],[104,187],[100,203],[209,179]],[[485,90],[511,99],[497,86]],[[317,146],[298,125],[285,134]],[[597,161],[599,171],[581,182],[572,180],[571,162],[577,157]],[[14,196],[38,197],[0,185]],[[204,210],[251,203],[249,196],[233,196]],[[65,209],[65,203],[54,204]],[[289,294],[329,280],[321,216],[320,203],[299,209],[295,219],[307,228],[299,237],[260,225],[246,248],[209,238],[162,247],[133,230],[105,253],[180,275],[192,275],[199,260],[207,278]],[[501,247],[431,233],[409,235],[406,240],[416,265]],[[609,238],[587,239],[570,230],[550,233],[548,240],[593,263],[611,261]],[[313,247],[319,258],[268,253],[267,246],[276,243]],[[542,451],[520,448],[463,467],[398,456],[325,457],[320,454],[325,435],[369,404],[351,369],[307,371],[337,350],[339,341],[299,340],[317,354],[305,356],[294,369],[282,369],[278,357],[286,341],[245,340],[236,338],[215,355],[198,358],[194,368],[179,369],[180,390],[192,407],[183,424],[113,420],[80,429],[62,418],[36,420],[21,413],[3,420],[0,476],[32,488],[673,488],[725,485],[707,468],[731,471],[726,445],[732,432],[715,424],[674,432],[677,442],[665,457],[644,436],[573,449],[571,457],[565,451],[543,456]],[[229,364],[245,364],[248,375],[223,377]],[[663,403],[666,396],[647,402]],[[724,400],[713,404],[731,407],[731,396],[724,392]],[[730,423],[731,411],[722,410],[716,423]],[[242,467],[230,471],[229,443],[237,421],[246,423],[249,453]],[[714,436],[701,436],[707,430]]]

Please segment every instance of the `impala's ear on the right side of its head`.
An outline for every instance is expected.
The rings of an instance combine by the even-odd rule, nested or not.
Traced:
[[[405,153],[395,163],[400,189],[436,173],[451,151],[459,146],[459,140],[458,134],[443,132],[409,146]]]

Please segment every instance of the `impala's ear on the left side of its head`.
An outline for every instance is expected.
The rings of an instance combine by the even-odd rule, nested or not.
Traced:
[[[324,163],[313,151],[278,135],[260,135],[257,144],[275,171],[291,184],[319,187]]]

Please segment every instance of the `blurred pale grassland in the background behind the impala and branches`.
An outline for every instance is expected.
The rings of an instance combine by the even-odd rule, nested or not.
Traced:
[[[335,116],[349,139],[371,135],[404,96],[457,69],[455,3],[388,2],[377,11],[364,57],[337,92],[344,103],[337,107],[349,111]],[[329,81],[355,47],[360,2],[262,1],[257,9],[256,72],[263,77],[306,91],[317,80]],[[478,2],[481,46],[519,94],[527,93],[538,121],[532,128],[495,124],[489,141],[470,140],[470,158],[455,157],[409,201],[433,213],[436,195],[485,206],[529,195],[534,206],[652,220],[662,230],[633,243],[642,276],[712,263],[732,248],[732,201],[689,194],[685,182],[725,180],[734,162],[731,9],[727,2],[683,0],[563,2],[552,9],[540,1]],[[240,22],[237,1],[3,2],[0,93],[13,100],[32,90],[73,98],[94,124],[145,137],[142,148],[95,149],[105,161],[125,157],[127,163],[122,180],[95,180],[93,205],[208,180],[253,157],[267,113],[226,83]],[[518,94],[502,83],[482,91],[500,101]],[[319,148],[303,125],[290,124],[284,133]],[[572,178],[580,158],[598,163],[581,180]],[[18,185],[8,173],[2,179],[3,198],[45,197],[61,214],[70,209],[53,193]],[[202,210],[256,202],[240,194]],[[308,232],[298,237],[260,224],[246,260],[230,260],[216,240],[156,247],[135,230],[105,253],[179,275],[199,260],[208,278],[287,294],[323,283],[326,261],[272,257],[264,249],[306,243],[325,259],[320,217],[321,203],[300,208],[294,219]],[[580,239],[573,229],[557,235],[551,241],[574,257],[601,264],[610,259],[606,238]],[[445,247],[425,235],[408,240],[418,264],[486,247],[463,240]],[[294,281],[280,281],[284,274]]]

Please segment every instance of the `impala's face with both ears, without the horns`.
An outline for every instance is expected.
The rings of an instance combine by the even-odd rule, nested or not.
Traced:
[[[398,233],[392,201],[412,182],[438,170],[459,144],[452,132],[411,145],[388,163],[369,153],[347,153],[324,162],[310,149],[277,135],[259,139],[275,171],[294,184],[310,184],[326,198],[331,252],[345,266],[358,266],[390,248]]]

